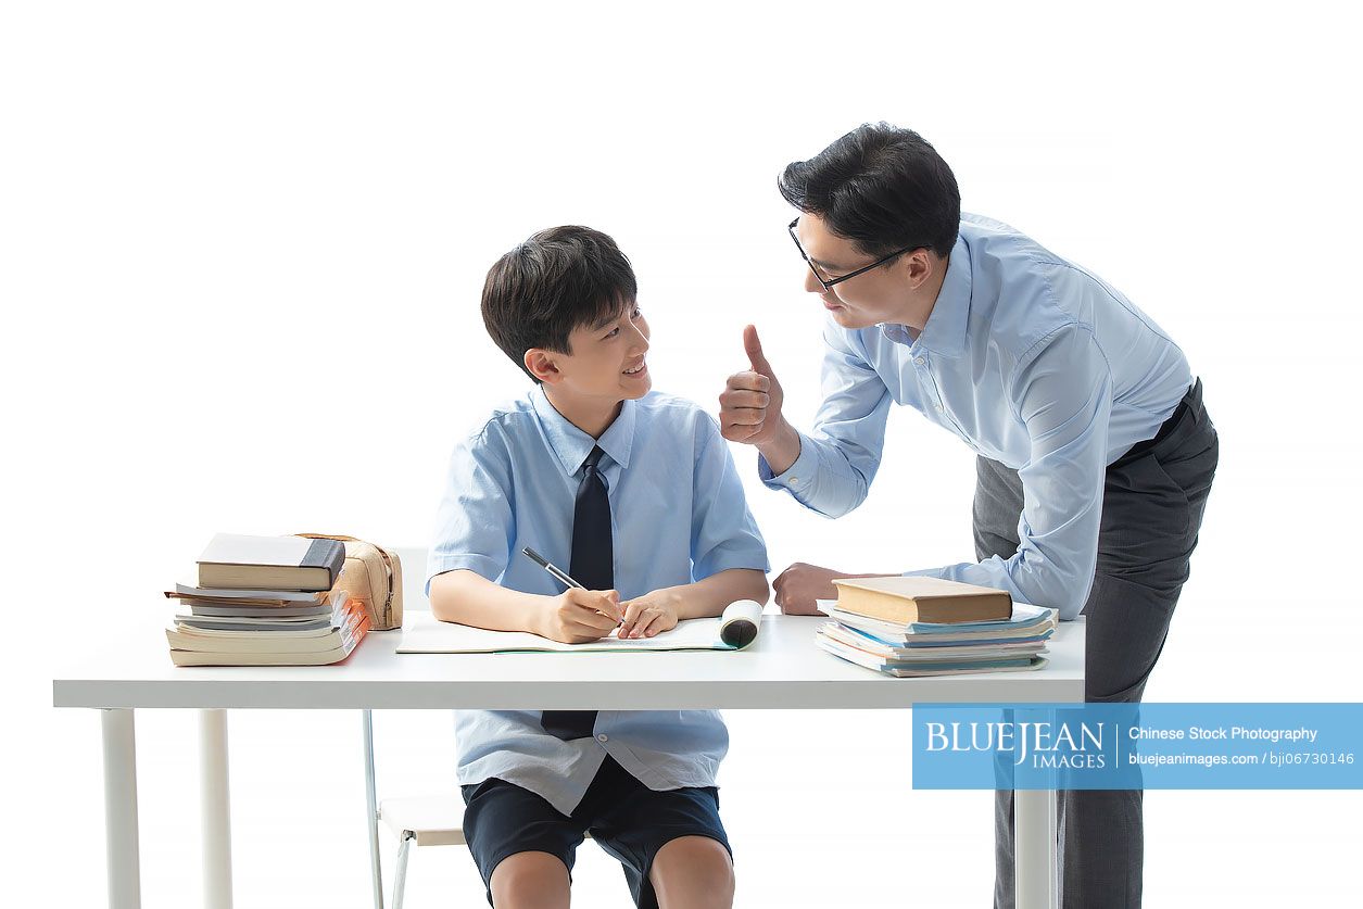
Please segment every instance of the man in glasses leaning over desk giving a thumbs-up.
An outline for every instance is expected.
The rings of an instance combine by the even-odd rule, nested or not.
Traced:
[[[827,309],[811,433],[781,410],[756,330],[751,369],[720,395],[726,439],[761,452],[766,485],[831,518],[880,466],[890,405],[977,454],[979,561],[906,574],[1007,590],[1088,626],[1088,700],[1134,702],[1159,658],[1217,462],[1216,431],[1178,345],[1122,293],[1007,225],[961,215],[947,164],[921,136],[863,125],[781,174]],[[908,469],[909,465],[905,465]],[[796,563],[774,582],[815,613],[833,578]],[[1013,905],[1013,797],[995,814],[995,905]],[[1139,792],[1063,792],[1062,905],[1139,906]]]

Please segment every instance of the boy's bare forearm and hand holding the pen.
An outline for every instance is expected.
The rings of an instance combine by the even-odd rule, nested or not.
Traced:
[[[762,581],[763,586],[766,579]],[[622,619],[615,590],[570,589],[557,597],[508,590],[476,571],[457,568],[431,579],[431,615],[493,631],[530,631],[564,643],[611,634]]]

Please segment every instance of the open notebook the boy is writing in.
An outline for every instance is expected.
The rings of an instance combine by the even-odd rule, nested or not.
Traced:
[[[615,636],[590,643],[560,643],[529,631],[488,631],[439,621],[429,613],[409,613],[398,653],[600,653],[650,650],[740,650],[752,643],[762,627],[762,606],[752,600],[729,604],[722,616],[687,619],[672,631],[653,638],[620,641]]]

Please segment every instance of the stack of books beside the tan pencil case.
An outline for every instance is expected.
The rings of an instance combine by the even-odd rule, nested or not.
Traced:
[[[195,585],[166,597],[179,666],[316,666],[350,656],[369,630],[364,604],[335,587],[345,545],[304,537],[217,534]]]

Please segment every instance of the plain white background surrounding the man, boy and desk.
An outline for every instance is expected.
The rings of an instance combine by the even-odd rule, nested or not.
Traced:
[[[213,531],[425,542],[453,440],[525,388],[477,298],[529,233],[613,234],[656,387],[711,412],[758,324],[807,425],[822,312],[776,177],[867,120],[1206,383],[1221,467],[1146,699],[1359,700],[1359,72],[1329,8],[7,4],[4,902],[102,902],[98,720],[50,680],[102,628],[159,634]],[[777,568],[970,557],[973,458],[910,412],[837,523],[735,457]],[[138,718],[147,906],[198,898],[194,721]],[[991,796],[909,792],[904,714],[731,726],[740,906],[988,905]],[[382,792],[453,786],[447,714],[378,728]],[[357,732],[232,714],[237,905],[368,905]],[[1352,902],[1360,810],[1148,793],[1146,905]],[[577,893],[628,905],[592,845]],[[481,899],[465,852],[414,856],[409,905]]]

